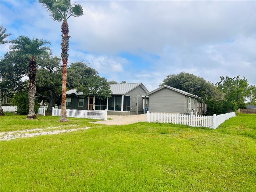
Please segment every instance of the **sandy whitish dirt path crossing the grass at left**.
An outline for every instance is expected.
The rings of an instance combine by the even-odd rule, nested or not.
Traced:
[[[59,127],[49,127],[44,129],[30,129],[30,130],[20,130],[20,131],[9,131],[9,132],[2,132],[0,133],[0,140],[12,140],[17,138],[23,138],[23,137],[35,137],[38,135],[53,135],[53,134],[59,134],[59,133],[67,133],[72,131],[78,131],[83,129],[89,129],[90,127],[84,127],[84,128],[77,128],[77,129],[62,129],[62,130],[49,130],[48,129],[54,129]],[[38,132],[35,132],[38,131]]]

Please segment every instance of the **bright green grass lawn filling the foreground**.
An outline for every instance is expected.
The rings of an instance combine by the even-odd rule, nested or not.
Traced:
[[[1,132],[66,125],[24,118],[1,117]],[[256,191],[255,120],[239,114],[212,130],[69,118],[91,128],[0,142],[1,191]]]

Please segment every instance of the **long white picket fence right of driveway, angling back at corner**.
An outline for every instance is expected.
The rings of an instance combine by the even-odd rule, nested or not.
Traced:
[[[197,127],[209,127],[216,129],[221,123],[225,120],[236,116],[236,112],[226,113],[216,116],[190,116],[183,114],[171,114],[171,113],[147,113],[147,121],[149,123],[173,123],[180,125],[188,126],[197,126]]]

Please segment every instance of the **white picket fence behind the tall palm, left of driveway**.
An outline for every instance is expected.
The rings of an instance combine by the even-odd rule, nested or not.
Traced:
[[[67,117],[107,120],[107,110],[67,109]],[[61,109],[52,108],[52,116],[60,116]]]

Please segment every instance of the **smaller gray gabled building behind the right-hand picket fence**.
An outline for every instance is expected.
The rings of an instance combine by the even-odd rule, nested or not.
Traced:
[[[200,102],[198,102],[200,97],[167,85],[159,87],[145,96],[149,97],[149,112],[189,114],[202,110],[202,105],[199,106]],[[206,108],[205,105],[203,107]]]

